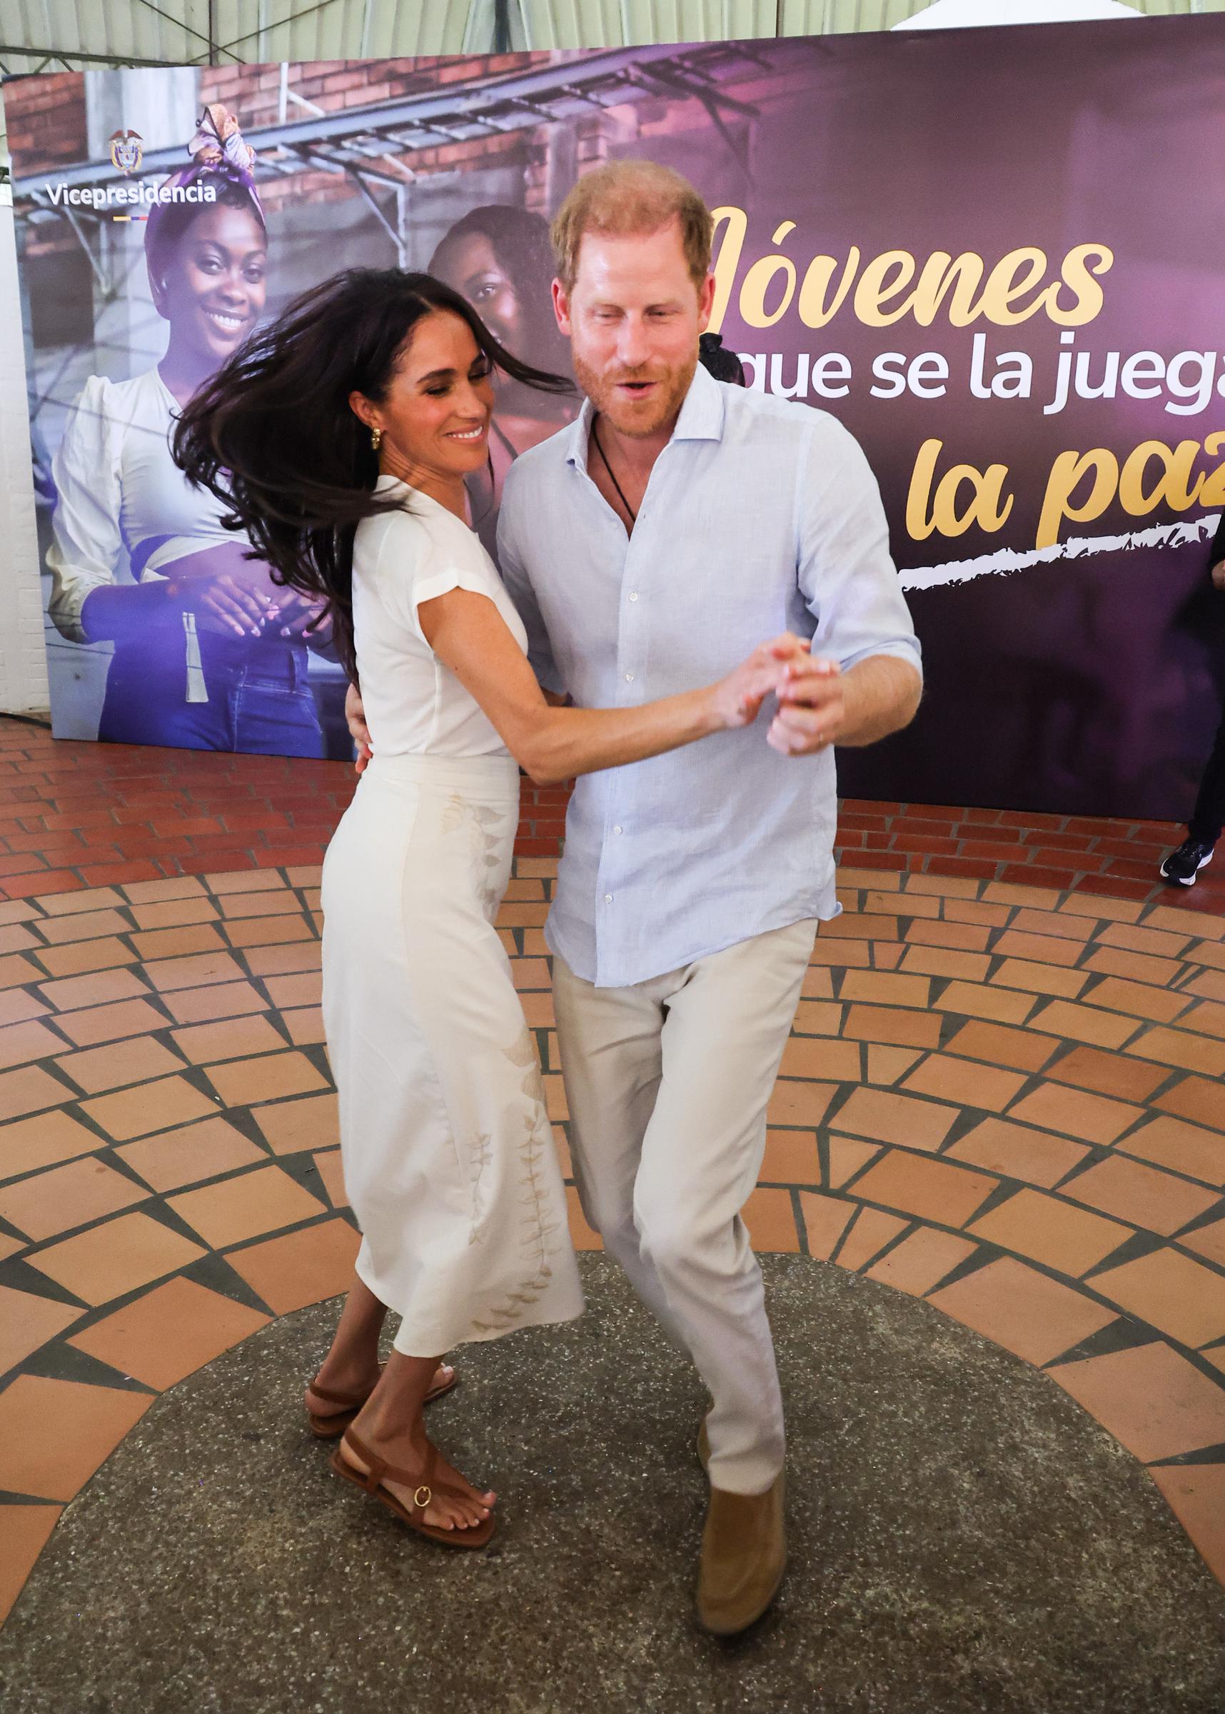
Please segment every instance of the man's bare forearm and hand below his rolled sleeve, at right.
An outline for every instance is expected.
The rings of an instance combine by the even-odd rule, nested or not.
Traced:
[[[831,744],[874,744],[910,725],[923,680],[893,655],[869,655],[846,672],[828,656],[798,655],[778,687],[766,742],[783,756],[814,756]]]

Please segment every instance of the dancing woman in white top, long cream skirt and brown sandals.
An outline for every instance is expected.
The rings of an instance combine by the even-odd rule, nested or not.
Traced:
[[[521,763],[620,766],[756,718],[797,639],[641,708],[553,708],[464,523],[511,357],[428,274],[305,293],[192,399],[175,458],[288,588],[331,603],[375,739],[324,864],[324,1023],[362,1250],[307,1392],[332,1467],[432,1541],[483,1546],[495,1495],[432,1447],[440,1352],[581,1313],[536,1056],[493,917]],[[401,1316],[379,1369],[387,1308]],[[331,1409],[329,1409],[331,1407]]]

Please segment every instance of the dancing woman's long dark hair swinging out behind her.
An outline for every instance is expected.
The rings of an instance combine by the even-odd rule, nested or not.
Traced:
[[[255,333],[183,408],[175,463],[226,507],[252,559],[272,581],[329,605],[351,679],[353,538],[363,518],[401,507],[373,494],[379,454],[350,408],[350,393],[387,398],[396,365],[425,315],[459,315],[478,348],[514,381],[572,391],[564,375],[505,351],[476,310],[432,274],[355,267],[303,291]]]

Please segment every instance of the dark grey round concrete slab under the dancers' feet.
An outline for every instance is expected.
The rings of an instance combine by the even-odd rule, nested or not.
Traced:
[[[159,1399],[0,1633],[7,1714],[1220,1714],[1225,1592],[1059,1387],[840,1268],[766,1258],[788,1395],[785,1596],[692,1618],[702,1392],[617,1268],[461,1352],[440,1445],[502,1493],[485,1555],[404,1532],[300,1417],[336,1306]]]

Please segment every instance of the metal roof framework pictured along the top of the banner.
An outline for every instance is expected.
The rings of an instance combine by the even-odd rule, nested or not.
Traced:
[[[367,108],[329,111],[298,96],[281,67],[279,118],[247,132],[262,180],[326,171],[346,177],[370,206],[399,259],[408,261],[413,168],[403,159],[423,149],[480,142],[543,123],[584,118],[646,99],[694,99],[735,151],[728,122],[756,118],[752,103],[733,96],[726,84],[769,75],[785,51],[769,39],[701,43],[692,46],[617,48],[610,51],[557,51],[547,63],[481,81],[451,82]],[[307,110],[291,117],[290,108]],[[122,149],[122,144],[120,144]],[[67,219],[84,245],[103,293],[106,264],[99,233],[115,221],[142,219],[142,187],[183,165],[182,149],[156,149],[135,161],[111,156],[15,178],[12,197],[19,221]],[[115,192],[125,187],[123,202]]]

